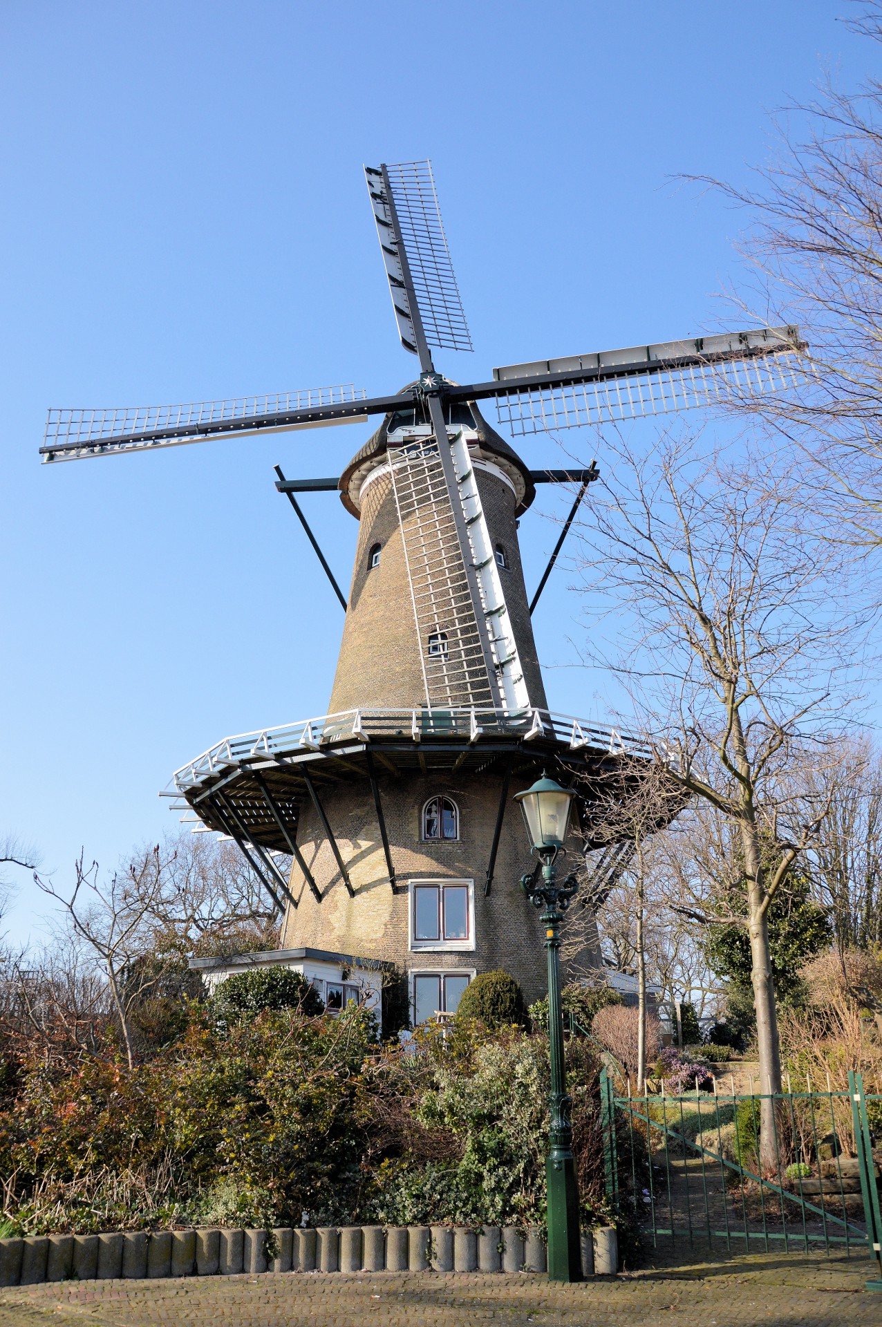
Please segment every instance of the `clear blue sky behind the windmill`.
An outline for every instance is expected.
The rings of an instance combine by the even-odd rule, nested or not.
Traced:
[[[409,381],[365,162],[434,162],[476,346],[438,356],[451,377],[720,329],[743,219],[674,176],[744,182],[769,111],[825,69],[854,86],[878,48],[850,9],[4,0],[0,832],[60,884],[81,848],[113,868],[174,828],[178,766],[325,713],[342,612],[272,466],[340,474],[370,433],[41,467],[48,406]],[[531,588],[568,502],[521,523]],[[347,585],[354,520],[304,506]],[[601,718],[570,583],[535,618],[549,702]],[[23,880],[15,937],[42,912]]]

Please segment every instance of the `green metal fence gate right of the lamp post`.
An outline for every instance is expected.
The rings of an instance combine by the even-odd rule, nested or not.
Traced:
[[[775,1164],[760,1166],[763,1097],[691,1092],[618,1096],[601,1072],[606,1190],[630,1205],[645,1239],[727,1250],[870,1251],[882,1290],[879,1166],[871,1127],[882,1095],[859,1074],[848,1092],[783,1092],[775,1103]],[[765,1097],[765,1100],[769,1100]]]

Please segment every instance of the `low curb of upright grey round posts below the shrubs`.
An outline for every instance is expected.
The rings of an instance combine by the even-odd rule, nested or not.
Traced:
[[[584,1230],[582,1275],[615,1275],[613,1226]],[[245,1271],[545,1271],[538,1226],[280,1226],[275,1230],[114,1230],[0,1239],[0,1287]]]

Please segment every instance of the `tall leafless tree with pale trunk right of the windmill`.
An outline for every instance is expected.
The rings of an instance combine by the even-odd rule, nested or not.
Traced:
[[[866,620],[842,547],[794,518],[798,479],[747,445],[728,460],[687,435],[649,458],[621,445],[582,529],[592,602],[614,614],[611,654],[657,762],[737,832],[768,1162],[781,1066],[767,913],[822,819],[781,774],[841,719]],[[609,666],[597,630],[592,648]]]

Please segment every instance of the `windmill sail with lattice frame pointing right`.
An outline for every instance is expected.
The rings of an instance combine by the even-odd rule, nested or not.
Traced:
[[[496,399],[513,434],[667,414],[788,387],[806,349],[798,328],[761,328],[493,369],[448,401]]]

